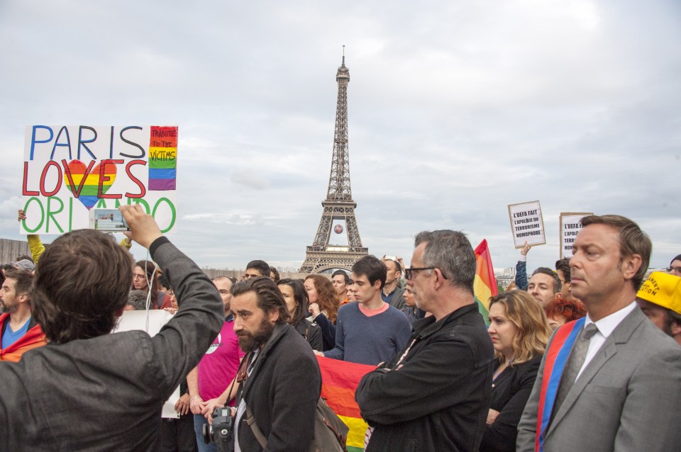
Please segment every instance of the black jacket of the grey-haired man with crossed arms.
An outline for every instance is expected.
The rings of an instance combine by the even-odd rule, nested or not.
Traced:
[[[367,373],[355,393],[362,417],[375,427],[367,451],[477,451],[493,362],[477,305],[460,307],[439,322],[415,321],[409,345]]]

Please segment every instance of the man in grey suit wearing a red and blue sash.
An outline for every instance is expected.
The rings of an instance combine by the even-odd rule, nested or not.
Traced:
[[[650,239],[636,223],[619,215],[590,215],[582,225],[570,274],[572,294],[585,303],[587,317],[553,334],[518,426],[516,450],[678,448],[681,349],[646,319],[635,302],[648,268]],[[583,330],[578,336],[577,325]],[[553,342],[558,344],[571,329],[577,339],[572,349],[560,350],[567,360],[559,370],[560,354],[552,353],[558,351]],[[560,385],[552,394],[548,382],[554,378]]]

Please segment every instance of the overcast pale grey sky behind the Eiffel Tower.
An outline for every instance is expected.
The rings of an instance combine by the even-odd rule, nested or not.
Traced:
[[[0,0],[0,237],[26,125],[179,125],[178,231],[201,266],[298,267],[326,197],[342,45],[362,243],[487,239],[507,205],[618,213],[681,253],[681,2]],[[55,236],[44,236],[50,242]],[[135,257],[144,257],[140,247]]]

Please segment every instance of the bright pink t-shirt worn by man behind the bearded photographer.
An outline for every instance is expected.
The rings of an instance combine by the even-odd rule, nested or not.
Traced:
[[[203,400],[214,399],[225,392],[238,371],[243,355],[234,332],[234,321],[225,322],[199,362],[199,395]],[[229,405],[233,406],[234,402]]]

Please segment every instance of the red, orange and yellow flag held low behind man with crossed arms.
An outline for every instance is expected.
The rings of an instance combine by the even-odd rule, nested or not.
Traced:
[[[376,366],[348,363],[317,356],[321,370],[321,397],[348,426],[348,452],[362,452],[367,423],[355,402],[355,390],[364,375]]]

